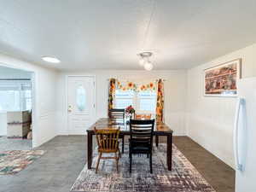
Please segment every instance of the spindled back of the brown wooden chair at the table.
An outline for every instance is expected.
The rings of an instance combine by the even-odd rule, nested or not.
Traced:
[[[119,144],[119,129],[101,129],[96,130],[96,140],[98,149],[108,153],[111,150],[117,150]]]

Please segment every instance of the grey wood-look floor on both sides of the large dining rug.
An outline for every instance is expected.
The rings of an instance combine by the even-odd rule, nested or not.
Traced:
[[[86,141],[84,136],[59,136],[44,143],[38,148],[46,151],[44,156],[22,172],[0,175],[0,192],[69,192],[86,163]],[[235,172],[224,162],[189,137],[174,137],[174,143],[217,192],[235,191]]]

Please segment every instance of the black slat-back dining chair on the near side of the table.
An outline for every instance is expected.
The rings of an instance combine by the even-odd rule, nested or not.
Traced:
[[[147,154],[149,156],[150,173],[152,173],[152,146],[154,133],[154,119],[149,120],[130,120],[130,172],[132,154]]]

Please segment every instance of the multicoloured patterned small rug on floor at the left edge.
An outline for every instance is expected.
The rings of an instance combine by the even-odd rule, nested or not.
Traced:
[[[20,172],[43,154],[43,150],[15,150],[0,153],[0,175]]]

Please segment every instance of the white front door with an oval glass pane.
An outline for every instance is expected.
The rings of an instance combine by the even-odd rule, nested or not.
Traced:
[[[69,135],[84,135],[95,120],[95,78],[68,76],[67,113]]]

